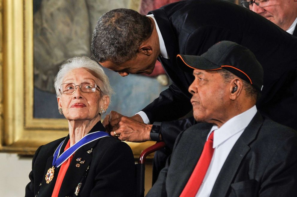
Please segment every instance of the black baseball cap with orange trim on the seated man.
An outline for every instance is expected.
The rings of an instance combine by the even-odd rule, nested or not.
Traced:
[[[255,55],[235,42],[220,41],[201,56],[177,55],[177,64],[182,70],[193,73],[193,69],[226,69],[252,84],[257,90],[263,87],[263,68]]]

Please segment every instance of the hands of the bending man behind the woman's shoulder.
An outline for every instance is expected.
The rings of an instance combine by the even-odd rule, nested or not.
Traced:
[[[111,136],[119,136],[119,140],[131,142],[144,142],[151,140],[151,124],[144,124],[142,118],[137,114],[132,117],[123,116],[111,111],[105,116],[103,126]]]

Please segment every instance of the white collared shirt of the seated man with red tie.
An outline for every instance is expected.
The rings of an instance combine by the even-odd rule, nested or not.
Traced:
[[[213,148],[215,149],[213,152],[213,157],[210,161],[210,165],[203,179],[202,185],[196,194],[196,197],[208,197],[213,189],[213,185],[216,181],[216,178],[221,171],[223,164],[226,161],[231,149],[234,144],[241,136],[245,128],[251,122],[255,114],[257,113],[257,108],[254,105],[249,110],[234,116],[222,127],[218,128],[217,126],[213,126],[210,130],[214,131],[213,135]],[[210,135],[208,134],[208,136]],[[207,136],[207,139],[208,139]]]

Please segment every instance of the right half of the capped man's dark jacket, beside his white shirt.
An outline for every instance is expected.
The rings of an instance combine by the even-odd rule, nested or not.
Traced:
[[[296,148],[295,130],[257,113],[234,144],[210,196],[274,196],[278,190],[292,196],[296,182],[286,179],[297,178]]]

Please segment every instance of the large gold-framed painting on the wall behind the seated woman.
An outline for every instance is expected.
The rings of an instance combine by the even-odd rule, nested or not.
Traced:
[[[139,1],[3,2],[0,4],[3,19],[0,33],[4,38],[0,43],[3,76],[0,151],[33,155],[38,146],[68,133],[67,120],[58,114],[53,90],[59,65],[73,56],[92,56],[91,36],[101,14],[117,7],[132,7],[133,2]],[[73,2],[79,6],[72,6]],[[135,9],[137,7],[134,5]],[[81,27],[76,28],[79,25]],[[137,75],[123,78],[113,71],[105,71],[116,93],[109,110],[127,116],[134,115],[167,88],[155,78]],[[128,144],[137,157],[154,142]]]

